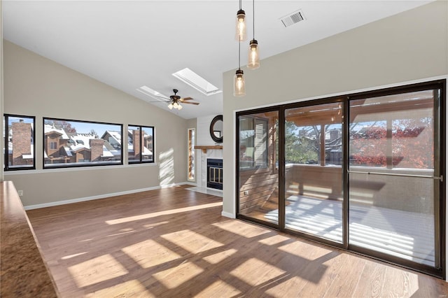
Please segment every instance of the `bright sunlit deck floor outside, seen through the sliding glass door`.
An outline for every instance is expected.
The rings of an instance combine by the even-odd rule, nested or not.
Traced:
[[[342,202],[293,195],[286,206],[286,227],[342,242]],[[265,215],[276,222],[278,210]],[[418,228],[416,228],[418,227]],[[352,203],[351,244],[434,267],[433,215]]]

